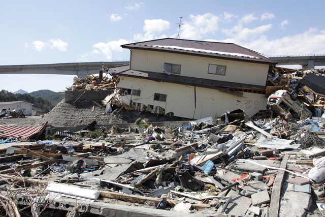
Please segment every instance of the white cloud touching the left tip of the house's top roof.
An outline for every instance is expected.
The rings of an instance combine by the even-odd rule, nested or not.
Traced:
[[[123,49],[121,48],[121,45],[128,44],[128,43],[131,43],[131,42],[129,42],[125,39],[119,39],[118,41],[110,41],[107,43],[104,43],[104,42],[96,43],[92,46],[93,47],[92,53],[104,55],[106,59],[112,60],[112,58],[113,58],[112,51],[122,52]],[[82,55],[85,55],[85,54],[82,54]]]

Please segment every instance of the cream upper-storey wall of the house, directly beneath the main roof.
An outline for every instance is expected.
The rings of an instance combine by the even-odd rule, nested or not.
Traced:
[[[133,70],[164,73],[164,63],[181,65],[181,76],[263,86],[269,70],[268,64],[132,49]],[[225,75],[208,74],[209,64],[226,66]]]

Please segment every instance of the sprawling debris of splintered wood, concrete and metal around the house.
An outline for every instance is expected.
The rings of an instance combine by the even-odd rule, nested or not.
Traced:
[[[272,73],[273,91],[299,83],[297,71]],[[105,106],[108,116],[164,113],[128,102],[116,82],[88,76],[69,89],[111,89],[91,102]],[[94,120],[75,131],[53,128],[47,139],[45,132],[10,138],[0,145],[0,215],[319,216],[325,207],[324,95],[305,87],[296,100],[312,115],[273,114],[271,107],[268,118],[268,110],[249,117],[237,109],[160,127],[142,118],[128,127]]]

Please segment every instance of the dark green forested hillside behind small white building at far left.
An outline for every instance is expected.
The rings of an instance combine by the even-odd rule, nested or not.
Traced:
[[[13,94],[7,90],[0,91],[0,102],[13,102],[13,101],[25,101],[32,103],[33,110],[36,111],[50,111],[54,106],[48,100],[44,100],[41,97],[35,98],[29,94]]]

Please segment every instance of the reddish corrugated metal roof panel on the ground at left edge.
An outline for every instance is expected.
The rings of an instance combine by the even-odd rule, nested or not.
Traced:
[[[34,126],[34,127],[8,127],[8,126],[1,126],[0,131],[0,138],[12,138],[16,139],[18,137],[22,139],[29,139],[31,137],[37,136],[41,134],[46,128],[47,122],[44,123],[42,126]]]

